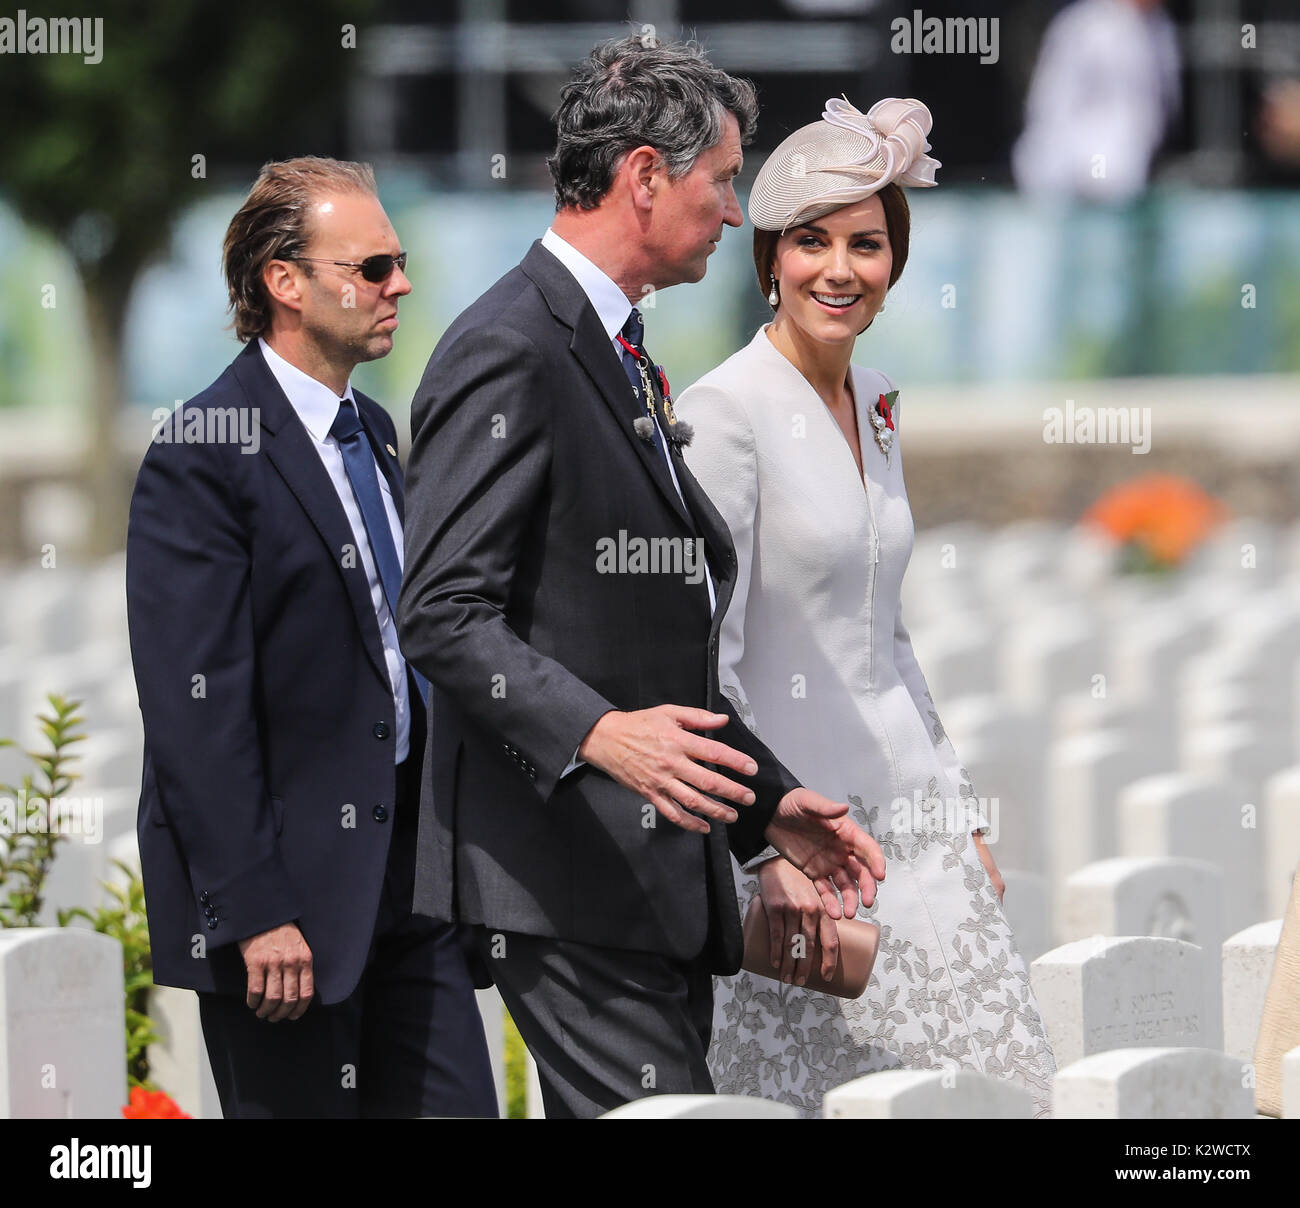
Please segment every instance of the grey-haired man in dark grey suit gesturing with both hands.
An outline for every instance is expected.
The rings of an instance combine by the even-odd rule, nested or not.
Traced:
[[[412,404],[398,624],[434,685],[416,909],[472,925],[551,1117],[712,1090],[711,974],[741,961],[728,848],[774,844],[832,917],[884,875],[718,690],[734,553],[633,307],[741,225],[755,116],[693,46],[597,47],[556,113],[554,225]]]

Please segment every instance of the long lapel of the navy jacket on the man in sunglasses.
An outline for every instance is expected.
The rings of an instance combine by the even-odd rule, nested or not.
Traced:
[[[234,371],[244,394],[259,411],[263,449],[325,542],[329,559],[342,577],[352,605],[361,645],[376,672],[387,684],[389,671],[384,659],[384,644],[380,641],[380,623],[374,616],[374,603],[360,558],[355,567],[343,566],[344,547],[356,545],[356,534],[347,523],[347,512],[343,511],[320,454],[280,389],[280,382],[266,368],[256,343],[250,343],[235,359]]]

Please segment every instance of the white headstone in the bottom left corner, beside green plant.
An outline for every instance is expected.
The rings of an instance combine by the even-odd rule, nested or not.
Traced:
[[[116,1118],[126,1104],[122,945],[0,931],[0,1118]]]

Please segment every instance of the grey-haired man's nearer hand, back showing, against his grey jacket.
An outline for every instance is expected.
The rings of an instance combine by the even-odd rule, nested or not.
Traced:
[[[744,776],[753,776],[758,765],[731,746],[690,732],[722,729],[728,722],[725,713],[684,705],[658,705],[633,713],[611,710],[588,731],[577,753],[649,801],[673,826],[706,835],[705,818],[734,822],[738,817],[731,806],[710,800],[706,793],[740,805],[754,804],[753,789],[702,765],[716,763]]]

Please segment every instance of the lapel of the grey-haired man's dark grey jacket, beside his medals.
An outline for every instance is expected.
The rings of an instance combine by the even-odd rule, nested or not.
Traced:
[[[653,443],[641,440],[632,427],[637,417],[636,395],[582,287],[573,280],[572,273],[541,246],[541,242],[529,248],[521,268],[542,291],[551,313],[572,330],[569,351],[577,358],[597,393],[614,414],[619,430],[632,442],[641,464],[664,502],[676,512],[686,529],[693,532],[690,515],[672,485],[663,455]]]

